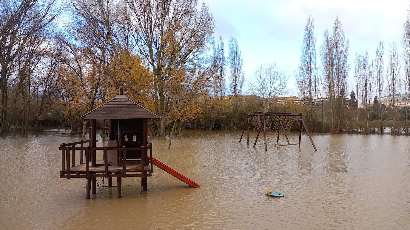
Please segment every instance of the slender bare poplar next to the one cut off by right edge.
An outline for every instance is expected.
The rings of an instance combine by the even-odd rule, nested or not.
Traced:
[[[387,92],[389,93],[389,103],[392,106],[393,111],[393,127],[392,134],[396,135],[396,116],[397,116],[397,104],[400,93],[400,58],[399,51],[397,51],[397,45],[395,42],[391,42],[389,45],[389,66],[387,68]]]

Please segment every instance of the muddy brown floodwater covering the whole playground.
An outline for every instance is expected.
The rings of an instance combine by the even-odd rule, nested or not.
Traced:
[[[183,130],[171,150],[150,138],[156,159],[202,188],[154,166],[148,192],[128,177],[122,198],[102,187],[90,200],[85,179],[59,178],[59,144],[80,137],[0,139],[0,229],[410,229],[410,137],[316,134],[317,152],[307,136],[264,152],[239,136]]]

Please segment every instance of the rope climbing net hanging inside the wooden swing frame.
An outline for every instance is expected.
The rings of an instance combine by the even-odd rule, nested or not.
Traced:
[[[287,134],[296,125],[296,116],[265,116],[266,144],[274,147],[290,145]]]

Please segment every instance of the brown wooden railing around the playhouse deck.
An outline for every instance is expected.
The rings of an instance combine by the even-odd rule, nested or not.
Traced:
[[[147,172],[145,171],[144,166],[147,164],[150,164],[150,173],[152,173],[153,170],[153,165],[152,163],[149,163],[148,161],[148,156],[147,156],[147,150],[150,150],[150,157],[152,158],[153,156],[153,151],[152,151],[152,143],[148,143],[147,146],[139,146],[139,147],[90,147],[90,146],[83,146],[84,143],[90,143],[91,140],[87,141],[77,141],[77,142],[72,142],[72,143],[63,143],[60,145],[60,150],[62,150],[62,171],[66,171],[66,175],[64,176],[63,173],[61,174],[61,177],[66,177],[67,179],[70,179],[71,177],[86,177],[91,178],[91,177],[101,177],[101,174],[90,174],[90,162],[91,162],[91,152],[92,150],[103,150],[103,159],[104,159],[104,171],[103,171],[103,176],[105,178],[109,177],[127,177],[127,176],[146,176]],[[81,145],[80,147],[75,147],[75,145]],[[84,163],[84,153],[85,153],[85,175],[76,173],[71,175],[71,167],[75,167],[75,151],[80,150],[80,164]],[[109,163],[108,163],[108,151],[107,150],[117,150],[118,153],[121,154],[122,156],[122,170],[115,170],[117,174],[112,174],[112,172],[109,172]],[[141,151],[141,174],[127,174],[127,164],[126,164],[126,156],[125,152],[126,150],[140,150]],[[70,159],[70,151],[71,151],[71,159]],[[95,151],[96,152],[96,151]],[[95,157],[93,159],[96,159]],[[92,165],[96,165],[96,162],[92,162]],[[118,175],[121,174],[121,175]]]

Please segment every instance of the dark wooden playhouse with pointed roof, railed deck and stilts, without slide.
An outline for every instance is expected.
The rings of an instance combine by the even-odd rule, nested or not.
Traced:
[[[148,150],[149,158],[153,159],[152,144],[148,143],[148,119],[160,117],[128,99],[120,87],[118,96],[81,118],[91,122],[89,140],[60,145],[60,177],[86,178],[86,199],[90,198],[90,191],[96,194],[97,177],[108,179],[108,187],[112,187],[112,178],[116,177],[117,197],[121,197],[121,179],[129,176],[141,177],[143,191],[146,191],[148,176],[153,172],[148,159]],[[96,128],[96,119],[109,120],[108,146],[96,147],[96,130],[101,129]],[[80,159],[76,159],[78,152]],[[97,160],[97,154],[101,160]]]

